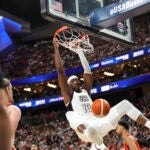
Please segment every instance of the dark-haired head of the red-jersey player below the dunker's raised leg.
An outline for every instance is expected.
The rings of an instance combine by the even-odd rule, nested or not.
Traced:
[[[116,133],[121,136],[124,131],[128,131],[129,130],[129,125],[126,121],[119,121],[118,125],[116,127]]]

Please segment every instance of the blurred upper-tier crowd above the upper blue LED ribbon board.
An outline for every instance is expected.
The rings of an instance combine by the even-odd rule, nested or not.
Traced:
[[[87,56],[89,63],[149,46],[149,13],[134,18],[133,28],[136,41],[134,46],[122,45],[91,37],[95,53]],[[64,48],[61,48],[60,51],[65,68],[69,69],[80,66],[79,59],[75,53]],[[10,79],[51,73],[55,71],[52,42],[51,40],[41,40],[21,45],[13,49],[7,57],[2,58],[0,64],[5,75]]]

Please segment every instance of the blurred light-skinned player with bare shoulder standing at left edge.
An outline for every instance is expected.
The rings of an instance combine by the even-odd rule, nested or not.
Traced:
[[[12,92],[12,85],[10,81],[6,78],[3,78],[3,94],[1,95],[0,99],[3,99],[3,102],[7,106],[7,112],[9,116],[9,122],[10,122],[10,127],[11,127],[11,150],[15,150],[13,144],[14,144],[14,138],[15,138],[15,132],[18,126],[18,122],[21,118],[21,111],[18,107],[13,105],[13,92]],[[6,125],[7,128],[7,125]]]

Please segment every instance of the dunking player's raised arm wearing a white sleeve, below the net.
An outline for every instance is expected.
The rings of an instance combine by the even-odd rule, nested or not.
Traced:
[[[78,51],[78,56],[80,58],[82,67],[84,69],[84,88],[87,90],[88,94],[90,95],[90,91],[92,88],[92,84],[93,84],[93,77],[92,77],[92,73],[91,73],[91,68],[89,66],[89,63],[84,55],[84,53],[80,50]]]

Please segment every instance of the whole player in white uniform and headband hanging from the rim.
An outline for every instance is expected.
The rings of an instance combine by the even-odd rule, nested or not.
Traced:
[[[67,80],[59,54],[59,46],[55,39],[53,40],[53,46],[58,81],[61,93],[64,96],[64,103],[68,108],[66,117],[71,128],[75,130],[81,140],[94,143],[93,149],[107,149],[103,144],[103,137],[109,131],[116,128],[118,121],[125,114],[134,121],[150,128],[150,121],[127,100],[123,100],[112,107],[106,117],[96,118],[91,111],[92,99],[90,97],[90,90],[93,79],[86,57],[82,51],[78,52],[79,59],[84,68],[84,84],[81,88],[77,76],[73,75]]]

